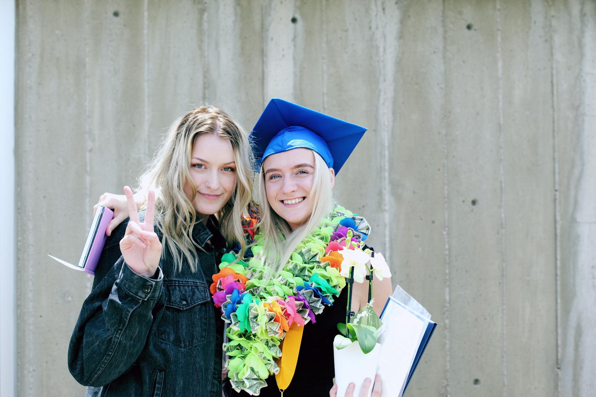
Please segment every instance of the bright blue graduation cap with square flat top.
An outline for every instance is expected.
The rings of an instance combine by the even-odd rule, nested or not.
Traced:
[[[307,148],[321,155],[337,174],[366,130],[283,99],[271,99],[251,133],[255,171],[272,154]]]

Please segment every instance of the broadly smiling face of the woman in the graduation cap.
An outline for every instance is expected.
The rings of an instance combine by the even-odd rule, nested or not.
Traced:
[[[315,197],[311,196],[314,152],[298,148],[272,154],[263,161],[263,171],[267,201],[275,213],[284,218],[291,230],[305,223],[315,205]],[[333,186],[334,172],[332,168],[329,171]]]

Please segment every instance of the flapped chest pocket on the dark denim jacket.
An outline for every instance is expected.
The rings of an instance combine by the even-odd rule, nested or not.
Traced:
[[[183,349],[204,342],[213,311],[207,285],[164,280],[163,290],[164,308],[157,337]]]

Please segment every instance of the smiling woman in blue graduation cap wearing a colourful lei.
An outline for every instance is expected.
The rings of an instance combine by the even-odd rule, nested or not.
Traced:
[[[281,99],[254,126],[260,222],[247,257],[236,264],[225,257],[212,285],[228,323],[232,395],[328,396],[350,269],[356,283],[348,315],[370,299],[371,264],[377,314],[391,294],[387,264],[364,244],[370,226],[332,198],[335,176],[365,131]]]

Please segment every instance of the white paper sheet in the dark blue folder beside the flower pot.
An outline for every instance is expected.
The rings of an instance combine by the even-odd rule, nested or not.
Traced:
[[[429,320],[421,318],[393,296],[381,320],[385,329],[378,338],[381,355],[377,373],[383,381],[381,397],[401,397]]]

